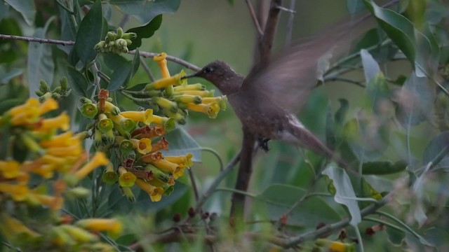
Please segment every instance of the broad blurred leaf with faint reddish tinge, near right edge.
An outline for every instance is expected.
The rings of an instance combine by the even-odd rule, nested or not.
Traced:
[[[434,109],[435,88],[429,80],[411,73],[398,94],[396,118],[406,128],[415,126],[424,120],[433,121],[429,113]]]

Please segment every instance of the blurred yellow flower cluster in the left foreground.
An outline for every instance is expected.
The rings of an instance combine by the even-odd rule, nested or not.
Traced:
[[[9,136],[8,146],[11,146],[6,153],[12,154],[0,160],[0,207],[3,209],[0,234],[23,251],[41,251],[41,248],[110,251],[112,247],[100,242],[93,232],[119,234],[119,221],[83,219],[72,223],[72,218],[60,215],[63,196],[83,192],[72,186],[96,167],[107,165],[109,160],[98,152],[86,162],[88,155],[81,146],[84,137],[69,131],[69,116],[60,113],[53,118],[43,118],[56,109],[58,103],[52,98],[42,104],[38,99],[28,99],[0,116],[0,126],[7,131],[4,136]],[[58,134],[60,130],[63,132]],[[41,179],[36,179],[39,177]],[[47,223],[20,218],[20,212],[15,209],[24,204],[48,209]]]

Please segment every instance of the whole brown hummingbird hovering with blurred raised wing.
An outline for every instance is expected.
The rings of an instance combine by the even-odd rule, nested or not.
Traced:
[[[336,46],[341,51],[348,42],[341,32],[319,34],[286,50],[266,66],[254,66],[246,78],[221,61],[210,62],[185,78],[200,77],[213,83],[265,151],[269,139],[280,140],[346,167],[346,162],[304,127],[291,108],[300,108],[306,102],[317,83],[320,60],[329,56],[326,52]]]

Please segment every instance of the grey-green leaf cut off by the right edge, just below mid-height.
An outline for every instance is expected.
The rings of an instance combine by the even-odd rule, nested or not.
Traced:
[[[432,162],[434,168],[443,168],[449,171],[449,132],[443,132],[434,137],[427,144],[424,154],[422,155],[422,163]]]

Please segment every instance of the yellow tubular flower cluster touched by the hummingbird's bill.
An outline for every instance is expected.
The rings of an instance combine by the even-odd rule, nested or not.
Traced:
[[[182,78],[186,75],[184,71],[170,76],[166,56],[166,53],[162,52],[154,57],[154,61],[161,69],[162,78],[147,84],[141,91],[152,96],[154,106],[161,109],[166,116],[175,118],[180,124],[185,123],[187,110],[205,113],[209,118],[216,118],[220,109],[226,109],[225,96],[213,97],[214,90],[206,90],[206,87],[200,83],[187,84],[187,79]]]

